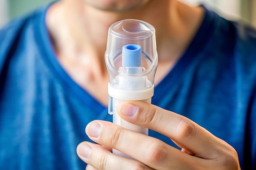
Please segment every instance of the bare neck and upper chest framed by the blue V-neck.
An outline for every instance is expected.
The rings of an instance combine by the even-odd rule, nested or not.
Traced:
[[[138,19],[155,27],[159,58],[155,82],[158,83],[190,44],[202,16],[200,7],[191,8],[176,0],[151,0],[127,12],[103,11],[83,0],[64,0],[49,8],[46,24],[63,68],[95,97],[95,84],[108,82],[104,53],[111,24]],[[88,82],[92,88],[88,87]]]

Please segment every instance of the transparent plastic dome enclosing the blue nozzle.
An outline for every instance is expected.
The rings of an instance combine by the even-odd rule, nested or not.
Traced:
[[[135,51],[134,53],[141,47],[141,52],[138,52],[140,54],[136,54],[140,55],[141,59],[124,58],[123,47]],[[111,86],[126,90],[152,88],[157,68],[155,28],[140,20],[121,20],[112,24],[108,30],[105,61]],[[132,78],[128,78],[127,82],[121,77]],[[130,83],[132,81],[133,83]]]

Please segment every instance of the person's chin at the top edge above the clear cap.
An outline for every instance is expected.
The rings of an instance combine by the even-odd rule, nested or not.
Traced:
[[[138,9],[149,0],[84,0],[94,8],[104,11],[127,12]]]

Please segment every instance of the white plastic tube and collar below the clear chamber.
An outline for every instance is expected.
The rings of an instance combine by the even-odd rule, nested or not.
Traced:
[[[121,119],[121,117],[117,114],[117,105],[124,100],[141,100],[147,103],[151,103],[151,98],[154,94],[154,86],[141,91],[127,91],[127,90],[115,88],[110,84],[108,84],[108,94],[112,100],[109,102],[109,104],[112,105],[112,106],[109,106],[109,108],[112,108],[112,112],[109,111],[109,113],[113,114],[113,123],[121,127],[124,127],[126,129],[133,130],[135,132],[139,132],[144,135],[148,135],[148,128],[131,124],[125,121],[124,119]],[[119,152],[118,150],[113,149],[112,152],[115,155],[132,159],[132,157],[122,152]]]

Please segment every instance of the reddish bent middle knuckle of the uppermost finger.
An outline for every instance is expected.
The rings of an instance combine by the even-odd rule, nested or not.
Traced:
[[[187,138],[195,134],[195,125],[189,119],[182,118],[177,126],[176,132],[179,139]]]

